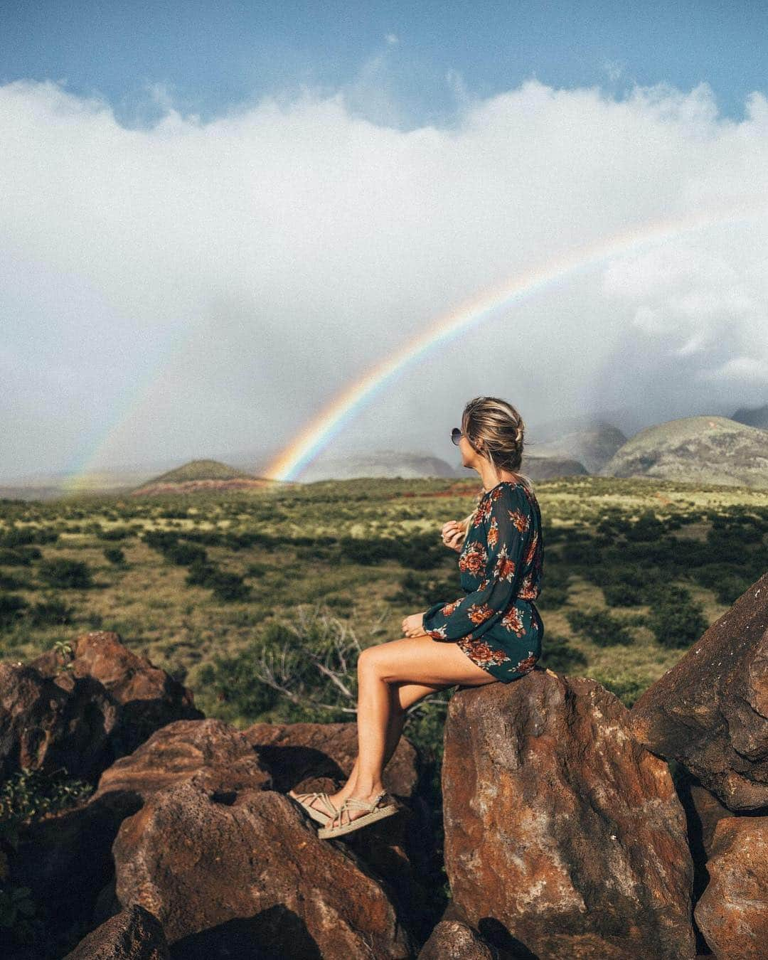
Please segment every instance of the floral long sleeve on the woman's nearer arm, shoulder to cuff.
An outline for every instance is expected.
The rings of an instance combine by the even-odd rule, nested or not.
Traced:
[[[467,596],[435,604],[424,613],[423,630],[433,639],[478,637],[490,630],[516,597],[531,556],[531,505],[519,488],[496,487],[478,509],[486,543],[472,535],[462,550],[459,569],[482,579]]]

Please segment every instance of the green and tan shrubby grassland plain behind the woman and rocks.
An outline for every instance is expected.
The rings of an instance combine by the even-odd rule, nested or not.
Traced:
[[[765,571],[768,490],[536,485],[543,665],[627,706]],[[445,520],[469,477],[323,481],[151,500],[0,500],[0,659],[117,631],[208,716],[349,719],[356,652],[462,594]]]

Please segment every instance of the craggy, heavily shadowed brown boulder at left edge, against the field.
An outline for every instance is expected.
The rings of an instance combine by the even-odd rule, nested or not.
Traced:
[[[72,641],[72,669],[54,651],[0,662],[0,776],[64,767],[91,782],[159,727],[202,718],[191,690],[97,631]]]

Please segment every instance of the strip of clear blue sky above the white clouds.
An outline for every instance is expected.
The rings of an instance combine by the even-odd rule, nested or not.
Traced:
[[[768,87],[768,3],[0,4],[0,83],[65,80],[73,93],[106,97],[126,126],[153,122],[148,85],[206,121],[264,93],[349,84],[377,58],[403,128],[449,124],[457,83],[486,98],[527,78],[599,85],[616,98],[632,84],[706,81],[720,112],[740,119],[745,96]]]

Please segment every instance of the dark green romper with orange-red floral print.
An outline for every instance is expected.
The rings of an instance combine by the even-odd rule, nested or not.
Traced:
[[[423,629],[455,642],[503,683],[530,673],[541,656],[543,537],[539,503],[522,482],[502,480],[481,493],[459,557],[466,596],[433,604]]]

